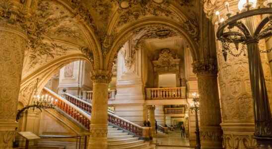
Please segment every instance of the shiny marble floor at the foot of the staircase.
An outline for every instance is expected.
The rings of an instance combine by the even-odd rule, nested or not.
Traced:
[[[180,148],[180,147],[189,147],[190,143],[188,139],[182,139],[180,131],[174,131],[174,132],[169,132],[167,136],[161,136],[157,138],[153,138],[153,142],[157,146],[163,146],[159,147],[158,149],[190,149],[190,148]],[[178,148],[174,147],[165,147],[165,146],[175,146]]]

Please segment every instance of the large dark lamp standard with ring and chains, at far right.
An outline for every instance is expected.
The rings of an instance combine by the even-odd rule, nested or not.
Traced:
[[[229,10],[229,3],[225,2],[227,8],[227,19],[218,18],[218,31],[216,36],[222,43],[222,53],[225,61],[227,55],[231,54],[238,57],[242,53],[249,59],[249,74],[253,96],[253,107],[255,116],[254,138],[257,140],[257,146],[252,149],[272,149],[272,116],[265,84],[264,73],[262,69],[260,52],[270,52],[259,50],[259,40],[272,36],[272,0],[266,0],[264,6],[255,8],[257,0],[239,0],[238,8],[241,13],[232,16]],[[266,17],[255,28],[252,16],[265,14]],[[243,23],[243,21],[245,23]],[[237,54],[230,49],[230,44],[234,44]],[[242,44],[242,48],[239,48]]]

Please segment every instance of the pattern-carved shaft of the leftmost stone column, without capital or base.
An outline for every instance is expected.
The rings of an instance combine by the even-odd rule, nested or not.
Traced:
[[[15,119],[27,42],[0,30],[0,43],[0,119]]]

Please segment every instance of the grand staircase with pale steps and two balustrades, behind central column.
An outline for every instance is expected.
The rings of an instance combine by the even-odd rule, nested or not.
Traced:
[[[92,108],[90,103],[68,93],[63,93],[62,97],[46,87],[42,93],[56,99],[53,102],[57,111],[86,131],[89,130]],[[142,130],[141,126],[108,111],[108,149],[155,149],[155,145],[143,140]]]

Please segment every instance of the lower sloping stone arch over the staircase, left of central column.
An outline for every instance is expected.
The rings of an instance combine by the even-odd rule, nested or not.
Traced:
[[[42,68],[28,75],[26,78],[22,79],[18,101],[21,102],[24,106],[30,104],[32,102],[31,97],[33,96],[35,91],[37,78],[40,78],[40,81],[38,83],[38,92],[40,92],[42,88],[46,85],[48,80],[62,67],[64,67],[68,63],[78,60],[85,60],[86,62],[88,62],[88,64],[91,65],[90,61],[85,55],[71,54],[54,60],[53,62],[43,66]],[[92,65],[91,68],[93,70]]]

